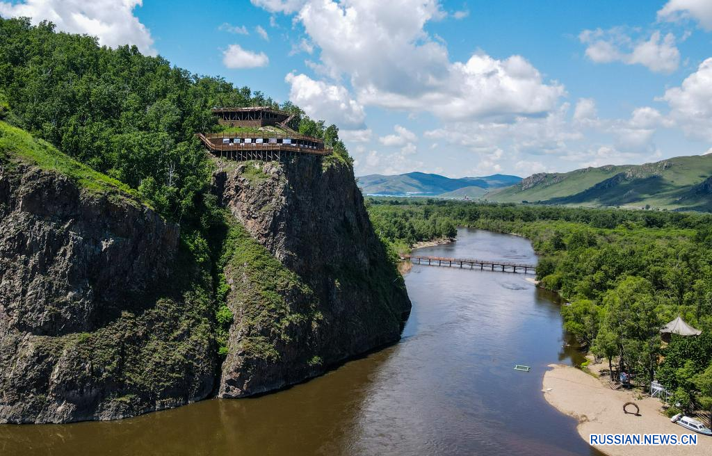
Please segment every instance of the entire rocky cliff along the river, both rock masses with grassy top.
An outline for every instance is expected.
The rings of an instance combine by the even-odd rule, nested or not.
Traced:
[[[0,423],[263,393],[399,339],[404,283],[342,161],[218,162],[211,265],[119,182],[3,134]]]

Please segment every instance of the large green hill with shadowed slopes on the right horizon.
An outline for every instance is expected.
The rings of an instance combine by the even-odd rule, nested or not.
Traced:
[[[601,166],[568,173],[539,173],[490,191],[491,201],[708,210],[712,205],[712,154],[642,165]]]

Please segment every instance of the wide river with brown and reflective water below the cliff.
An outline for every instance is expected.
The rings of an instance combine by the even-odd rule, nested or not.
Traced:
[[[536,262],[528,240],[483,230],[418,252]],[[582,356],[563,347],[555,295],[525,277],[414,265],[398,344],[258,398],[103,423],[0,425],[0,455],[597,455],[543,398],[546,366]]]

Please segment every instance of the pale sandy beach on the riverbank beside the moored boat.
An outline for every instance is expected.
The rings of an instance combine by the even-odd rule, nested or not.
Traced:
[[[550,364],[544,374],[544,398],[557,410],[579,420],[577,430],[589,441],[591,434],[689,434],[660,413],[657,398],[639,398],[637,391],[614,391],[599,378],[580,369]],[[640,415],[623,413],[623,405],[634,402]],[[609,456],[686,456],[712,454],[712,438],[698,434],[696,446],[602,446],[596,449]]]

